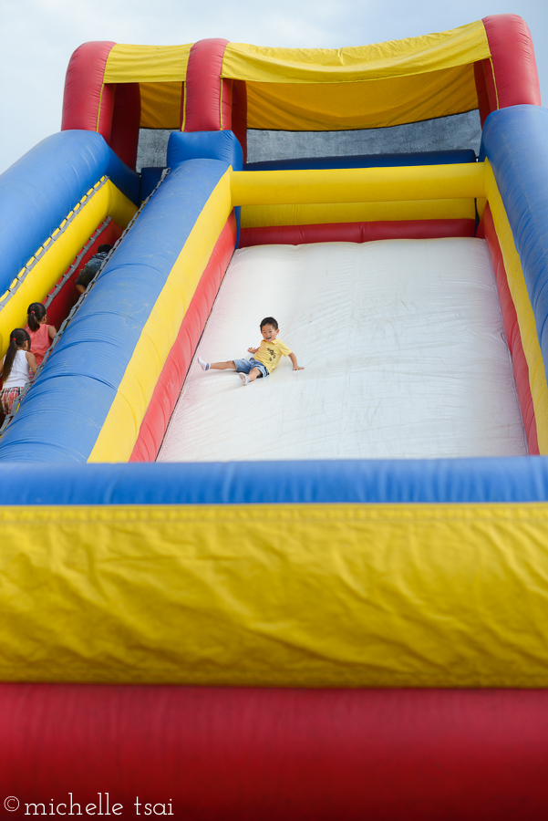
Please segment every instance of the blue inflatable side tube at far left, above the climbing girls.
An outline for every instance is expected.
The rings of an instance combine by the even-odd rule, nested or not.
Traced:
[[[52,134],[0,176],[0,294],[102,176],[139,203],[139,174],[93,131]]]

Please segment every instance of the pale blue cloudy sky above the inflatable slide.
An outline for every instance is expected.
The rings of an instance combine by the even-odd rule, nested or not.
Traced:
[[[88,40],[175,45],[224,37],[255,46],[339,48],[508,13],[531,29],[548,106],[546,0],[0,0],[0,172],[60,129],[68,60]]]

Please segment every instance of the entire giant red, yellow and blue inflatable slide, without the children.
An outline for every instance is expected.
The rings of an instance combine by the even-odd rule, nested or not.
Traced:
[[[474,111],[479,156],[247,161]],[[3,352],[60,326],[0,435],[6,812],[545,815],[547,134],[512,15],[77,49],[0,177]],[[269,315],[304,370],[202,371]]]

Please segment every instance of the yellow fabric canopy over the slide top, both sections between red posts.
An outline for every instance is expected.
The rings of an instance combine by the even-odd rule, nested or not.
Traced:
[[[139,82],[141,128],[178,128],[191,44],[112,48],[106,83]],[[478,107],[473,63],[490,57],[481,20],[373,46],[270,48],[229,43],[222,77],[245,80],[247,126],[372,129]]]

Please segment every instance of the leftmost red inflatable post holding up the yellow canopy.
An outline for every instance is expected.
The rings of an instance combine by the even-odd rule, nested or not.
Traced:
[[[107,57],[115,45],[103,41],[84,43],[70,57],[65,79],[62,131],[98,131],[109,142],[116,86],[103,87],[103,78]]]

